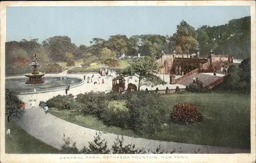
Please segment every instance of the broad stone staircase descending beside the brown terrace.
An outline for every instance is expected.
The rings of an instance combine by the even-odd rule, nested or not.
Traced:
[[[185,80],[183,80],[179,84],[183,86],[189,86],[190,84],[193,83],[193,77],[198,77],[198,80],[200,80],[203,83],[203,88],[209,86],[211,83],[214,83],[221,78],[221,76],[198,73],[198,74],[187,77]]]

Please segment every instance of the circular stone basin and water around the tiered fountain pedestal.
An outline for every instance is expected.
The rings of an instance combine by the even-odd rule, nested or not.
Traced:
[[[81,78],[76,77],[42,77],[45,80],[43,84],[26,84],[28,77],[20,78],[7,78],[5,79],[5,88],[11,89],[16,92],[32,92],[43,91],[45,89],[57,89],[60,87],[67,87],[68,85],[77,85],[82,82]]]

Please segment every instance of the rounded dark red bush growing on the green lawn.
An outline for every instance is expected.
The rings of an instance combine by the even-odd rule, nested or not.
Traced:
[[[199,107],[193,103],[178,103],[174,106],[170,119],[174,123],[187,124],[201,122],[203,116],[199,113]]]

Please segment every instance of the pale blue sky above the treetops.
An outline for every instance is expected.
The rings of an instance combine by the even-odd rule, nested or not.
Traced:
[[[249,15],[249,6],[8,7],[7,41],[61,35],[90,45],[94,37],[116,34],[172,35],[181,20],[198,28]]]

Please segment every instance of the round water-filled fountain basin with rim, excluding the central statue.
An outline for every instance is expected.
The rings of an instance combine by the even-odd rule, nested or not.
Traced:
[[[5,87],[19,92],[20,94],[46,93],[58,90],[65,90],[68,85],[70,88],[78,87],[84,83],[84,80],[74,76],[44,76],[42,80],[45,83],[28,85],[27,77],[7,77],[5,79]],[[36,92],[34,92],[36,89]]]

